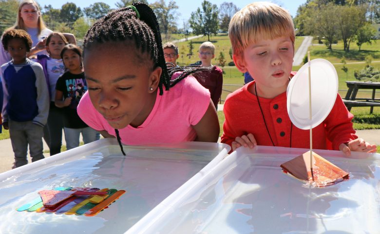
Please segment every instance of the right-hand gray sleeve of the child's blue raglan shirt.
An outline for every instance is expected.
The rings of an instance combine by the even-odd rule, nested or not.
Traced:
[[[40,126],[46,125],[49,115],[49,90],[47,88],[45,74],[43,73],[42,66],[39,63],[33,63],[32,69],[36,74],[36,88],[37,88],[37,106],[38,115],[33,119],[34,124]]]

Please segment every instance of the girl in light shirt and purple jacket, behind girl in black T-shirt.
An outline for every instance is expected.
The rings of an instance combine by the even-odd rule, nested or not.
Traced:
[[[47,125],[44,127],[43,138],[50,148],[50,155],[61,152],[63,115],[54,101],[56,98],[56,83],[58,77],[65,72],[65,66],[61,58],[61,52],[68,42],[62,33],[53,32],[45,39],[46,54],[38,54],[36,62],[40,63],[45,73],[46,83],[49,88],[50,108]]]

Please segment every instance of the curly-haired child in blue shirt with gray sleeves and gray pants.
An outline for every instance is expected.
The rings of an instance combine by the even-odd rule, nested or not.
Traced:
[[[44,158],[42,136],[49,113],[49,94],[41,65],[27,58],[32,47],[29,34],[21,29],[7,30],[1,42],[12,57],[1,66],[2,120],[4,129],[9,129],[14,167],[19,167],[28,163],[28,144],[32,162]]]

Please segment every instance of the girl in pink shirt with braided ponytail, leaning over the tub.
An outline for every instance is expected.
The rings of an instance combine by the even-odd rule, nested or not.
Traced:
[[[148,5],[134,2],[99,19],[83,46],[88,92],[78,114],[89,126],[120,145],[217,142],[209,91],[188,76],[202,68],[167,68]]]

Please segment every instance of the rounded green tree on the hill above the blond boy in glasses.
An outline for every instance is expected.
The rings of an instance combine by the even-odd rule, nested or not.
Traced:
[[[191,12],[189,22],[194,34],[208,36],[210,40],[211,34],[218,33],[218,7],[204,0],[202,10],[198,7],[195,12]]]

